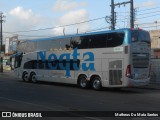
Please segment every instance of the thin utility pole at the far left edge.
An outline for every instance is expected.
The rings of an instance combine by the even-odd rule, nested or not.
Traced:
[[[2,56],[2,51],[3,51],[3,49],[2,49],[2,46],[3,46],[3,36],[2,36],[2,23],[3,23],[3,18],[4,18],[5,16],[3,15],[3,13],[2,12],[0,12],[0,23],[1,23],[1,32],[0,32],[0,72],[3,72],[3,56]],[[4,51],[3,51],[4,52]]]

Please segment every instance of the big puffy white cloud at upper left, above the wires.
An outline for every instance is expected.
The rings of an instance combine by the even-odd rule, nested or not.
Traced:
[[[45,17],[34,13],[32,9],[24,9],[22,6],[11,9],[7,19],[6,28],[10,28],[9,31],[11,29],[13,31],[37,29],[47,21]]]

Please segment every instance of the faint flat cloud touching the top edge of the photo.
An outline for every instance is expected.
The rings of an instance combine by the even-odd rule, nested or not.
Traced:
[[[73,0],[57,0],[53,6],[54,11],[68,11],[86,6],[86,2],[75,2]]]

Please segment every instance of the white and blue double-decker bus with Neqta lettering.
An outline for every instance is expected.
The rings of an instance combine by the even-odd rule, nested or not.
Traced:
[[[14,71],[25,82],[77,84],[81,88],[122,88],[150,80],[149,32],[119,29],[29,41],[18,52]],[[34,50],[33,50],[34,49]]]

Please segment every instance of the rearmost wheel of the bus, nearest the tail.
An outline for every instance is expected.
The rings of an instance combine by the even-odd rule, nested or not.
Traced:
[[[101,90],[102,84],[100,77],[94,77],[91,82],[91,86],[94,90]]]

